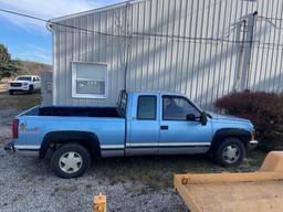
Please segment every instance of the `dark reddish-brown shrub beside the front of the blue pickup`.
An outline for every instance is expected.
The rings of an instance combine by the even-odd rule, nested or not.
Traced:
[[[233,93],[214,103],[222,112],[248,118],[255,127],[259,148],[283,150],[283,95],[264,92]]]

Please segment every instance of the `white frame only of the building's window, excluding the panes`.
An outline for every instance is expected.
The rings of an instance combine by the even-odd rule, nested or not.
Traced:
[[[105,94],[77,94],[76,93],[76,68],[75,64],[91,64],[91,65],[105,65]],[[86,80],[86,78],[81,78]],[[107,63],[94,63],[94,62],[81,62],[81,61],[73,61],[72,62],[72,97],[73,98],[107,98],[108,94],[108,64]]]

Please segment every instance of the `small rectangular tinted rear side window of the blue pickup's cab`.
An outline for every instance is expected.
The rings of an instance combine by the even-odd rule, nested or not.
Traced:
[[[156,96],[139,96],[137,119],[156,119]]]

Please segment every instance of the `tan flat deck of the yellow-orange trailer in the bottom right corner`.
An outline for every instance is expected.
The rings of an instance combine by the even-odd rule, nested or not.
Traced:
[[[188,208],[191,210],[190,202],[193,202],[198,212],[282,212],[283,209],[283,181],[203,183],[182,187],[190,194]]]

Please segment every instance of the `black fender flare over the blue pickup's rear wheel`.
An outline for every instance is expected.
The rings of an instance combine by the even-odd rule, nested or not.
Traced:
[[[52,131],[48,132],[41,144],[40,158],[43,159],[51,145],[78,142],[87,148],[93,157],[101,157],[101,145],[98,137],[88,131]]]

